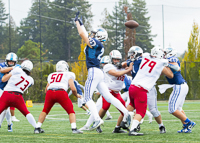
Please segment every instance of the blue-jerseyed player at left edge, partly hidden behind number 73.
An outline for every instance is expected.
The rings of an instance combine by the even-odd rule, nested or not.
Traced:
[[[2,82],[2,77],[9,73],[11,70],[13,70],[13,68],[15,67],[17,63],[17,55],[15,53],[9,53],[6,55],[6,59],[5,62],[0,63],[0,97],[3,93],[4,87],[7,84],[6,82]],[[8,107],[8,109],[6,109],[5,111],[3,111],[0,115],[0,127],[1,124],[4,120],[4,118],[6,117],[6,120],[8,122],[8,131],[12,132],[12,122],[11,122],[11,114],[10,114],[10,107]]]

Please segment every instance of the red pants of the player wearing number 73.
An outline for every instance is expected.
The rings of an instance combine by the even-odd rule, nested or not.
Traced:
[[[8,107],[17,108],[25,117],[30,113],[25,105],[22,95],[16,92],[4,91],[0,97],[0,113]]]

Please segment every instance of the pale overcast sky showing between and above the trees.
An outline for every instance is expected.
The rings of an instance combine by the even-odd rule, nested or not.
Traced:
[[[131,1],[131,0],[128,0]],[[111,13],[117,0],[89,0],[94,14],[93,25],[99,25],[101,13],[107,8]],[[8,12],[8,0],[3,0]],[[164,6],[164,47],[175,48],[179,54],[187,50],[192,25],[200,24],[200,0],[146,0],[152,26],[153,44],[163,47],[162,5]],[[17,26],[27,17],[32,0],[10,0],[10,13]],[[137,32],[137,29],[136,29]]]

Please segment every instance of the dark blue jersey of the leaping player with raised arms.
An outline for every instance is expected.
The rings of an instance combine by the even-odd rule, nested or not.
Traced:
[[[87,45],[84,50],[87,69],[91,67],[100,68],[100,60],[104,53],[104,47],[102,43],[95,38],[89,38],[89,41],[92,48]]]

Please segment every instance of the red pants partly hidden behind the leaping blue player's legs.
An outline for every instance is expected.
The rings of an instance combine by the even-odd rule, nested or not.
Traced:
[[[119,93],[115,93],[114,91],[110,91],[110,93],[115,97],[115,98],[117,98],[123,105],[124,105],[124,107],[126,107],[125,106],[125,101],[122,99],[122,97],[121,97],[121,95],[119,94]],[[103,100],[103,105],[102,105],[102,108],[103,108],[103,110],[108,110],[109,108],[110,108],[110,105],[111,105],[111,103],[108,103],[106,100],[105,100],[105,98],[102,96],[102,100]],[[119,110],[119,109],[117,109],[117,110]],[[123,112],[121,112],[120,110],[119,110],[119,112],[124,116],[124,114],[123,114]]]

